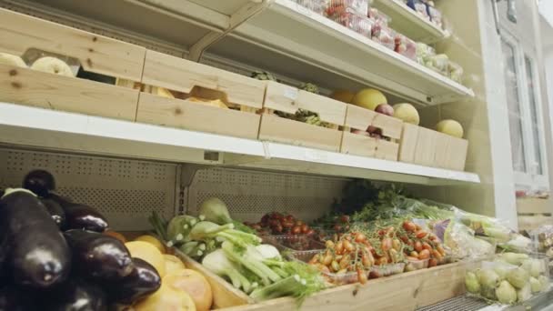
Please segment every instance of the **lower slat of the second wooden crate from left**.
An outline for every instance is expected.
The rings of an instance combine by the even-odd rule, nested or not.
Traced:
[[[260,116],[140,93],[136,122],[256,139]]]

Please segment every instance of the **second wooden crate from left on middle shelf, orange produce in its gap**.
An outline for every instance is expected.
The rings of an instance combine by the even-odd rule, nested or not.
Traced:
[[[142,92],[136,121],[200,132],[257,138],[265,84],[208,65],[148,50],[142,83],[168,90]],[[204,105],[192,97],[218,101]],[[228,108],[226,108],[228,107]]]

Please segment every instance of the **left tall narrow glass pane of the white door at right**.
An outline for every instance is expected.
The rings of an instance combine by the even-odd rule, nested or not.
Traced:
[[[518,96],[517,66],[515,62],[515,49],[506,41],[501,40],[504,70],[505,90],[507,92],[508,122],[511,139],[511,153],[513,156],[513,169],[517,172],[526,172],[526,158],[524,156],[524,142],[522,140],[522,119],[520,117],[520,104]]]

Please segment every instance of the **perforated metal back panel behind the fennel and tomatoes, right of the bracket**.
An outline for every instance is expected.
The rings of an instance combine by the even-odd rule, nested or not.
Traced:
[[[272,211],[290,213],[310,221],[326,214],[333,200],[341,196],[345,179],[317,176],[207,168],[196,172],[188,189],[188,212],[198,214],[208,197],[225,201],[230,215],[241,221],[257,222]]]

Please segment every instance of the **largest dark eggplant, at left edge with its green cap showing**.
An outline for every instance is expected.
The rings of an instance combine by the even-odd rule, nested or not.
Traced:
[[[28,190],[6,190],[0,200],[0,237],[15,285],[47,288],[65,281],[71,270],[69,247],[46,207]]]

